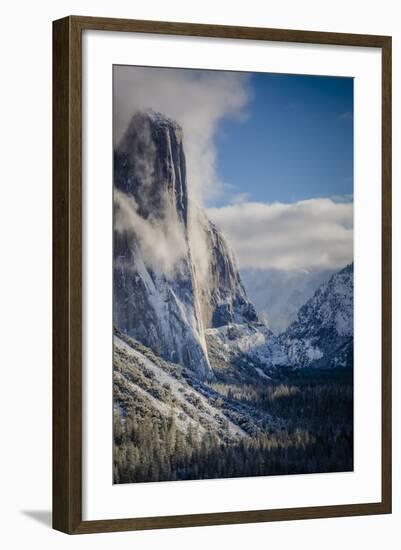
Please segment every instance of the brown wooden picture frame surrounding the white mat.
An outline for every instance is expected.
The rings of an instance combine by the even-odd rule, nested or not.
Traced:
[[[379,502],[82,520],[82,31],[378,48],[382,55],[382,496]],[[68,534],[391,512],[391,37],[66,17],[53,23],[53,527]]]

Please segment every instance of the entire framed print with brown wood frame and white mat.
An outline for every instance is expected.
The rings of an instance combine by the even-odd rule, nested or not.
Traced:
[[[53,24],[53,526],[391,512],[391,38]]]

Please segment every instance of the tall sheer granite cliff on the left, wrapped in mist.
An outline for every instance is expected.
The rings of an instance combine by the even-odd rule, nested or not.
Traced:
[[[257,316],[223,236],[203,212],[196,215],[204,265],[197,265],[190,207],[180,126],[136,113],[114,152],[114,324],[210,378],[205,329]]]

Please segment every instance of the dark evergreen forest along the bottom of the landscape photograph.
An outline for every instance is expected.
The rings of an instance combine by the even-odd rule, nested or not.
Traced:
[[[236,442],[133,404],[115,415],[114,481],[132,483],[349,471],[353,468],[351,384],[215,387],[229,399],[286,420]]]

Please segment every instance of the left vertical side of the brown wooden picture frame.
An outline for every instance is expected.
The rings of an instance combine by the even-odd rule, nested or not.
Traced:
[[[53,24],[53,527],[81,523],[81,52]]]

